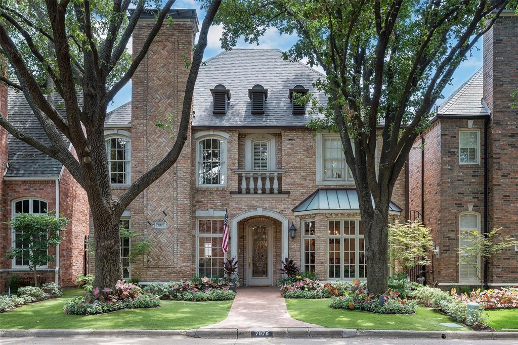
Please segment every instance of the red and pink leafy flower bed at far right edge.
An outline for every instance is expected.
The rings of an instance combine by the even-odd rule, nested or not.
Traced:
[[[481,291],[472,291],[457,294],[456,289],[451,290],[451,295],[461,302],[476,302],[485,309],[518,308],[518,288],[501,288]]]

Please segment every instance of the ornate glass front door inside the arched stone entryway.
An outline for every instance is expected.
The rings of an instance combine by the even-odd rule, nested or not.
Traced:
[[[247,283],[248,285],[272,285],[272,229],[265,223],[248,227]]]

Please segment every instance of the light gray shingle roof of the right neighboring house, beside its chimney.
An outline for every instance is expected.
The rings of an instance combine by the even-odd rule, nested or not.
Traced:
[[[484,91],[482,68],[439,106],[438,116],[487,116],[482,106]]]

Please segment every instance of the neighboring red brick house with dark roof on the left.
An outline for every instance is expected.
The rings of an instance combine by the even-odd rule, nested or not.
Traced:
[[[64,115],[59,101],[56,100],[54,106]],[[17,128],[49,143],[24,95],[7,91],[3,83],[0,83],[0,113]],[[85,236],[89,231],[86,193],[63,164],[13,138],[0,127],[0,293],[7,289],[9,274],[31,282],[33,278],[26,259],[6,259],[6,251],[11,246],[22,244],[16,242],[17,234],[5,222],[16,213],[46,211],[63,214],[70,224],[62,233],[61,244],[49,249],[55,261],[38,267],[40,280],[73,285],[87,264],[84,251]]]

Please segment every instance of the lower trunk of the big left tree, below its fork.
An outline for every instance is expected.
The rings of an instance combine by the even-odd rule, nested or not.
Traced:
[[[112,289],[122,279],[119,217],[110,212],[92,212],[94,223],[94,288]]]

